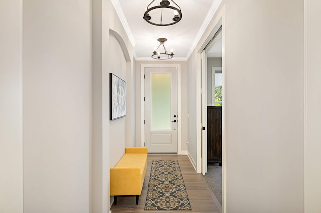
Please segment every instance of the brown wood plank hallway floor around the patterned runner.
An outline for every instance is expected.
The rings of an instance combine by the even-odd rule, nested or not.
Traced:
[[[166,211],[166,212],[197,212],[197,213],[220,213],[212,196],[209,192],[205,178],[201,174],[197,174],[193,168],[189,158],[186,155],[148,155],[148,167],[145,177],[144,186],[139,197],[139,204],[136,205],[136,196],[118,196],[117,205],[111,206],[114,212],[155,212],[145,211],[145,201],[147,187],[150,176],[152,160],[178,160],[183,175],[183,180],[189,196],[192,210],[190,211]],[[159,211],[158,211],[159,212]],[[165,211],[162,211],[165,212]]]

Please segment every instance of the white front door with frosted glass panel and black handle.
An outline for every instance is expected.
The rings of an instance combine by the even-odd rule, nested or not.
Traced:
[[[177,153],[177,68],[145,67],[145,146]]]

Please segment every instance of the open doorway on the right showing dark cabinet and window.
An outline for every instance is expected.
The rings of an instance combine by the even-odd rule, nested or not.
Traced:
[[[201,173],[212,197],[223,203],[224,63],[222,18],[200,49],[201,55]]]

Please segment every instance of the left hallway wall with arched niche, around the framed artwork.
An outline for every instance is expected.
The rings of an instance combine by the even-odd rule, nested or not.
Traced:
[[[110,166],[113,167],[124,154],[125,147],[134,146],[135,84],[132,44],[114,7],[109,8],[108,15],[111,29],[109,31],[109,73],[126,81],[126,116],[109,121],[110,150],[112,150],[110,151]]]

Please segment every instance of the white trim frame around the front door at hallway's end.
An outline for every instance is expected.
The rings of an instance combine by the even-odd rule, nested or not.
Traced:
[[[145,146],[145,67],[176,67],[177,68],[177,154],[183,154],[181,151],[181,64],[141,64],[140,84],[141,84],[141,147]]]

